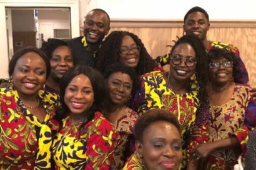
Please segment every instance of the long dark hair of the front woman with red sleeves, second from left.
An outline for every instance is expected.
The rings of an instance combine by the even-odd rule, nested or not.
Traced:
[[[89,67],[87,65],[76,65],[76,67],[72,67],[69,69],[64,76],[61,78],[60,83],[60,91],[61,91],[61,105],[62,107],[57,110],[55,119],[60,123],[60,128],[62,127],[62,119],[67,116],[69,113],[69,108],[67,107],[66,103],[64,102],[65,92],[66,88],[69,85],[69,83],[73,80],[74,77],[76,77],[79,74],[86,75],[92,84],[92,89],[94,92],[94,102],[89,108],[89,110],[86,111],[85,120],[81,126],[79,126],[79,133],[81,132],[82,128],[91,121],[94,118],[94,114],[96,111],[101,111],[103,108],[102,102],[105,99],[106,96],[106,87],[104,85],[104,78],[100,72],[98,72],[96,69]],[[82,113],[81,113],[82,114]]]

